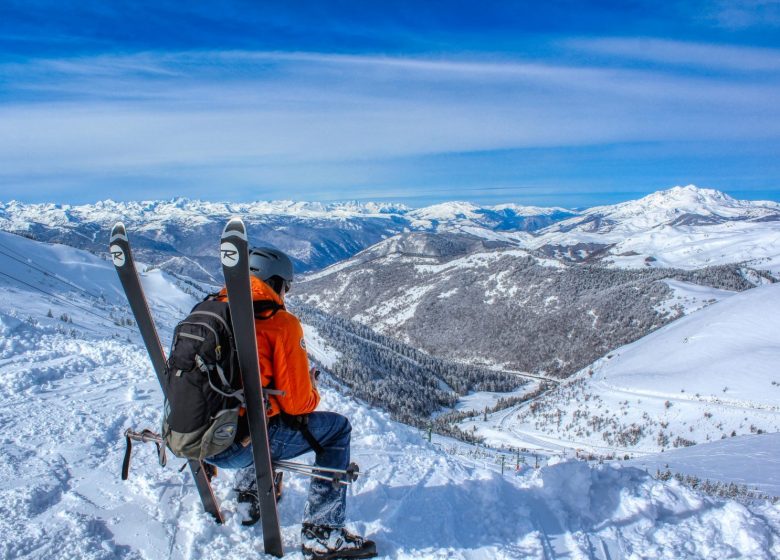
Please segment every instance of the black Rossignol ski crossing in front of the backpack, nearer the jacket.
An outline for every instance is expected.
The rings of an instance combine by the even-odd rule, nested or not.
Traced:
[[[249,280],[249,243],[246,227],[240,218],[233,218],[225,226],[220,243],[222,272],[225,275],[230,319],[236,342],[238,364],[246,399],[249,435],[257,476],[257,493],[263,527],[265,552],[277,557],[284,555],[279,514],[276,510],[271,452],[268,448],[268,428],[265,420],[263,387],[260,382],[260,364],[257,358],[255,316],[252,289]]]

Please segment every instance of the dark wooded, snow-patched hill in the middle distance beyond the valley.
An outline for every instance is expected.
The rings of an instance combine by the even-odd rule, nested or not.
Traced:
[[[733,265],[583,266],[465,234],[407,233],[309,275],[293,299],[436,356],[566,376],[684,313],[670,279],[732,291],[762,280]]]

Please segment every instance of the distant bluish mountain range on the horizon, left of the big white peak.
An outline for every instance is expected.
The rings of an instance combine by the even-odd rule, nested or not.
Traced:
[[[448,209],[445,209],[447,207]],[[539,229],[574,215],[562,209],[457,204],[412,211],[379,203],[169,201],[91,205],[0,202],[0,230],[93,252],[113,224],[124,221],[137,239],[137,253],[166,271],[217,283],[216,241],[229,218],[243,216],[249,234],[289,253],[300,271],[319,269],[406,230],[466,229],[484,236]],[[495,232],[495,233],[494,233]]]

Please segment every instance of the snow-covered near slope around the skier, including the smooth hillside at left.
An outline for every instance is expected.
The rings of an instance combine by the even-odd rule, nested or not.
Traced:
[[[0,557],[264,558],[259,527],[240,524],[233,473],[215,479],[222,526],[202,511],[178,459],[161,469],[138,445],[130,479],[119,479],[123,431],[158,426],[162,398],[110,262],[18,236],[0,234],[0,243],[18,259],[4,258],[0,275]],[[188,285],[159,270],[143,282],[167,340],[193,301]],[[322,340],[307,342],[334,359]],[[766,501],[713,498],[641,469],[538,453],[539,469],[502,474],[514,454],[428,442],[336,388],[323,389],[322,406],[352,421],[364,475],[349,490],[348,516],[384,558],[780,556],[780,508]],[[761,444],[741,452],[721,459],[759,458]],[[306,487],[285,479],[289,558],[301,558]]]

